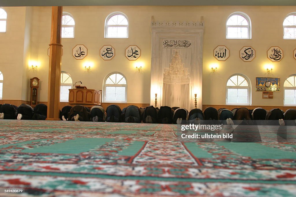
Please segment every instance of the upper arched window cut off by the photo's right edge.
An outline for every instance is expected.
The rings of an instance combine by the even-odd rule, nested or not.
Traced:
[[[284,39],[296,39],[296,12],[288,14],[283,22]]]

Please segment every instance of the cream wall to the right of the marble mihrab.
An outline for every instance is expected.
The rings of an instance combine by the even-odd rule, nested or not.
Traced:
[[[252,24],[251,40],[225,38],[225,21],[229,14],[240,11],[248,14]],[[285,79],[296,74],[296,60],[293,51],[296,40],[283,39],[283,20],[287,14],[296,12],[295,6],[255,6],[255,7],[213,7],[213,15],[205,16],[204,56],[203,56],[203,104],[225,105],[226,82],[235,73],[246,75],[252,85],[252,105],[283,106],[283,84]],[[217,20],[215,20],[217,19]],[[219,33],[220,32],[220,33]],[[217,45],[226,45],[230,57],[226,61],[217,61],[213,57],[213,49]],[[239,50],[243,46],[252,46],[256,57],[252,62],[244,62],[239,58]],[[279,62],[271,62],[267,58],[267,50],[271,46],[279,46],[284,51],[284,58]],[[218,63],[218,73],[210,73],[209,66]],[[274,92],[274,99],[262,99],[261,92],[255,92],[255,77],[266,77],[264,65],[271,64],[274,71],[270,77],[280,77],[281,92]]]

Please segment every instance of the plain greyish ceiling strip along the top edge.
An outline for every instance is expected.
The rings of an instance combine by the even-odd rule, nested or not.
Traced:
[[[296,6],[296,0],[0,0],[0,6]]]

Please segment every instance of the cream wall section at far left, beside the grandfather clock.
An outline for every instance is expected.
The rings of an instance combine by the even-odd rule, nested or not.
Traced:
[[[3,73],[3,100],[21,100],[24,65],[26,7],[5,7],[6,32],[0,33],[0,71]]]

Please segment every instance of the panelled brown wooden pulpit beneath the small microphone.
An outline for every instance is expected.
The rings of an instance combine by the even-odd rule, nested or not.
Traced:
[[[96,89],[87,89],[85,86],[69,89],[69,104],[83,105],[92,107],[94,105],[101,105],[102,91]]]

